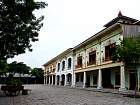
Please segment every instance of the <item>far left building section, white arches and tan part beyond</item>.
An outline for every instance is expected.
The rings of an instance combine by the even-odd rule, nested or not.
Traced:
[[[62,52],[44,65],[44,84],[72,86],[73,52],[72,48]],[[51,68],[53,69],[51,71]],[[47,82],[46,82],[47,81]]]

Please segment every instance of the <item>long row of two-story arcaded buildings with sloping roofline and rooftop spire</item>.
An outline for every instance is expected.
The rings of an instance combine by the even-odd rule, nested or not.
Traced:
[[[115,46],[123,38],[140,32],[140,22],[119,12],[104,27],[97,34],[44,64],[45,80],[52,74],[56,80],[55,85],[118,88],[120,91],[135,89],[136,86],[140,89],[140,67],[137,71],[133,68],[125,69],[122,62],[111,61]],[[50,69],[46,68],[50,68],[53,63],[55,69],[48,75]]]

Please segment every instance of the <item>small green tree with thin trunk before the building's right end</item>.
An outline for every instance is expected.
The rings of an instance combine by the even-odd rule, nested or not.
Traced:
[[[140,63],[140,34],[133,37],[124,38],[120,45],[116,45],[115,52],[112,54],[112,60],[114,62],[120,61],[124,63],[126,69],[130,67],[135,70],[136,86],[135,94],[137,90],[137,67]]]

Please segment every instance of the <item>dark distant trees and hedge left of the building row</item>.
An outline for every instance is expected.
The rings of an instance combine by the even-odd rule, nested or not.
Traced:
[[[4,67],[3,67],[4,66]],[[12,63],[5,63],[3,62],[0,71],[0,76],[5,76],[5,81],[3,83],[6,83],[7,85],[10,84],[21,84],[23,83],[43,83],[44,80],[44,73],[42,68],[31,68],[24,64],[23,62],[12,62]],[[19,77],[14,78],[14,75],[18,73]],[[26,74],[26,77],[21,77],[21,74]],[[32,78],[33,77],[33,78]],[[28,82],[27,82],[28,79]]]

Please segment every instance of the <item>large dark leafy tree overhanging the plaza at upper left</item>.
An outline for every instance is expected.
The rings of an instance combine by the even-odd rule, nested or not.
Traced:
[[[45,8],[45,2],[34,0],[0,0],[0,62],[31,49],[38,41],[44,16],[36,18],[34,10]]]

